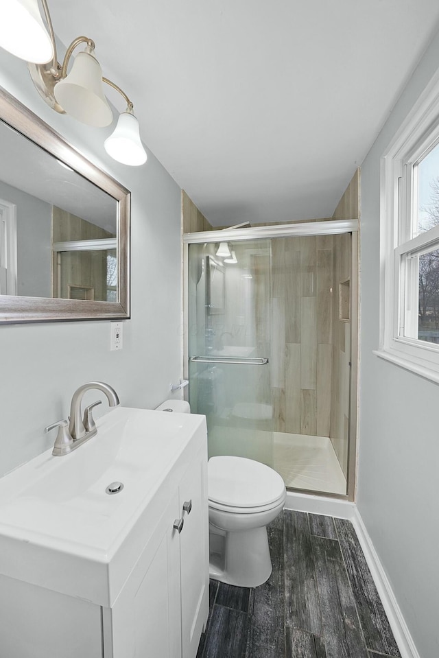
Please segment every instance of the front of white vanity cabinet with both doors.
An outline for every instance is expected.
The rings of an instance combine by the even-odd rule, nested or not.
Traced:
[[[202,449],[114,606],[103,610],[105,658],[195,658],[209,613],[206,495]]]

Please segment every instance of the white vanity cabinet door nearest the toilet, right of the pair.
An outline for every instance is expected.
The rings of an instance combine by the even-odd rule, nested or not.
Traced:
[[[209,614],[209,507],[204,449],[193,460],[180,487],[182,658],[195,658]],[[191,504],[190,512],[183,506]]]

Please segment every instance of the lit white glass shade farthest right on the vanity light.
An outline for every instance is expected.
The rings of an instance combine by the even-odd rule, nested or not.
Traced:
[[[115,131],[104,141],[108,155],[123,165],[143,165],[147,155],[140,139],[139,121],[130,112],[119,116]]]

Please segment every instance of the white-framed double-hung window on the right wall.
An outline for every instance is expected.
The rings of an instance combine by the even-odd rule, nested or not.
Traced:
[[[382,159],[381,349],[439,381],[439,75]]]

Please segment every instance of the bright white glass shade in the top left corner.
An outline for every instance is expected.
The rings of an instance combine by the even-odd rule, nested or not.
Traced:
[[[43,23],[38,0],[1,3],[0,46],[16,57],[45,64],[54,58],[54,45]]]

